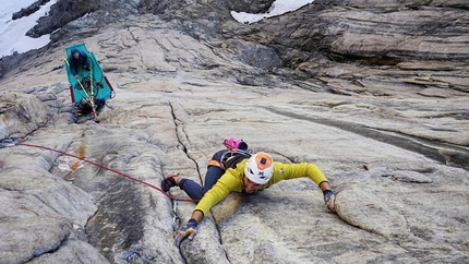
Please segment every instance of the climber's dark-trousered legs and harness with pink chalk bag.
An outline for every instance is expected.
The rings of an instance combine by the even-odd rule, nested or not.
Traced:
[[[228,168],[236,168],[238,163],[251,157],[248,144],[242,140],[229,137],[224,141],[224,145],[226,148],[215,153],[212,160],[208,161],[204,187],[193,180],[170,175],[161,181],[163,191],[168,192],[171,187],[178,185],[191,199],[201,200]]]

